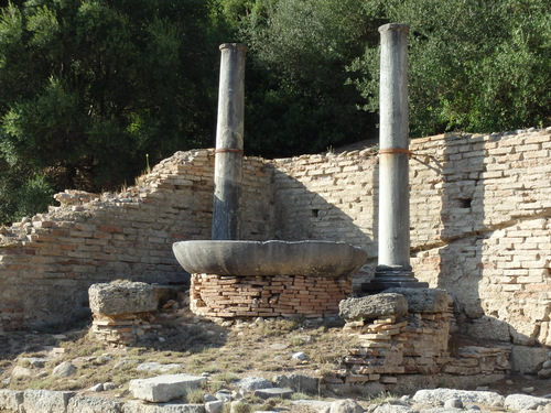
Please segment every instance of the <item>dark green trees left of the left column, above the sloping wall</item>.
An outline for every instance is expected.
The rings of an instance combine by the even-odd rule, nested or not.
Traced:
[[[0,202],[10,205],[0,221],[44,209],[18,206],[9,189],[29,176],[50,183],[44,196],[108,189],[143,171],[145,153],[154,163],[210,145],[216,28],[202,0],[29,0],[0,9]]]

